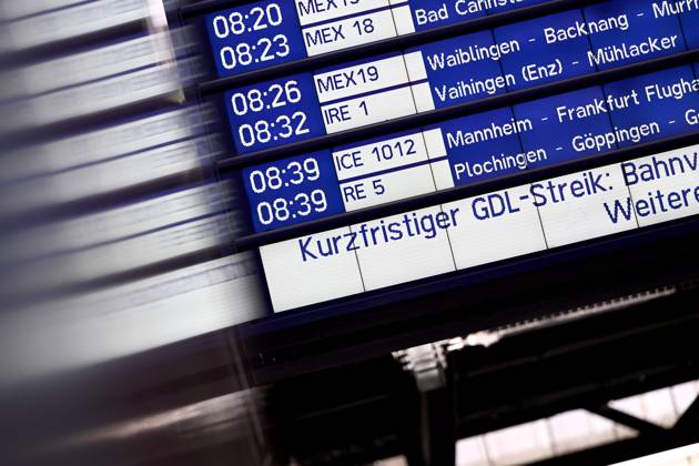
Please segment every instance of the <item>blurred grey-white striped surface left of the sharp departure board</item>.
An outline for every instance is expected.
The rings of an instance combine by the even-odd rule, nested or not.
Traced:
[[[170,3],[0,3],[0,387],[267,313]]]

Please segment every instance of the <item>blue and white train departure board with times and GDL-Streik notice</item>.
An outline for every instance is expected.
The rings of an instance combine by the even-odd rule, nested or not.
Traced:
[[[217,74],[226,77],[490,14],[506,18],[539,3],[545,2],[278,0],[204,20]],[[294,150],[243,169],[257,233],[544,166],[608,159],[599,169],[264,245],[260,255],[274,311],[698,214],[699,146],[615,160],[620,149],[698,131],[697,63],[423,120],[391,134],[372,131],[376,123],[696,50],[698,21],[696,2],[609,0],[454,31],[361,60],[263,74],[222,91],[232,156],[361,134],[351,138],[356,142]]]

